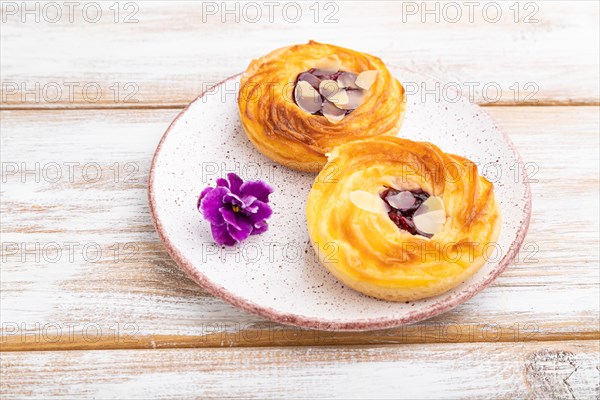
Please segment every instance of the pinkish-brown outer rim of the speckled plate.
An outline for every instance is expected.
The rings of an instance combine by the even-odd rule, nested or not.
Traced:
[[[428,78],[431,78],[435,81],[440,81],[439,79],[432,78],[426,74],[422,74]],[[309,329],[319,329],[319,330],[327,330],[327,331],[366,331],[366,330],[375,330],[375,329],[386,329],[398,327],[400,325],[405,325],[409,323],[416,323],[428,318],[431,318],[435,315],[442,314],[446,311],[451,310],[452,308],[464,303],[465,301],[471,299],[485,287],[487,287],[490,283],[492,283],[498,275],[500,275],[506,267],[510,264],[510,262],[515,258],[517,252],[521,248],[523,241],[525,240],[525,236],[527,235],[527,231],[529,229],[529,222],[531,220],[531,187],[529,185],[529,179],[527,176],[527,172],[525,169],[525,165],[523,163],[523,159],[519,154],[517,148],[514,143],[510,139],[510,137],[500,129],[494,119],[485,111],[482,107],[479,107],[482,113],[489,119],[490,123],[497,129],[504,140],[512,150],[516,159],[518,160],[519,166],[521,167],[521,175],[523,178],[523,182],[525,183],[525,206],[523,208],[523,223],[517,230],[517,234],[515,236],[515,240],[511,243],[509,250],[504,255],[504,257],[498,263],[498,266],[491,270],[486,279],[482,281],[479,285],[472,285],[467,287],[465,290],[461,290],[458,293],[448,295],[434,304],[421,309],[409,312],[402,317],[396,318],[365,318],[360,320],[352,320],[352,321],[331,321],[331,320],[319,320],[318,318],[308,318],[303,317],[297,314],[290,313],[282,313],[277,310],[274,310],[271,307],[261,306],[260,304],[256,304],[249,300],[240,298],[235,293],[227,290],[226,288],[215,284],[212,282],[206,275],[202,274],[194,265],[185,258],[181,252],[177,249],[177,247],[171,242],[169,237],[166,235],[163,224],[158,217],[156,212],[156,199],[154,197],[154,172],[156,167],[156,160],[160,151],[162,149],[162,145],[169,136],[169,133],[177,123],[177,121],[188,111],[188,109],[197,101],[202,99],[204,95],[210,91],[212,91],[215,87],[223,85],[227,81],[237,79],[241,76],[241,73],[230,76],[221,82],[211,86],[204,92],[202,92],[198,97],[196,97],[190,104],[188,104],[178,115],[175,117],[173,122],[169,125],[165,133],[163,134],[154,156],[152,157],[152,163],[150,165],[150,174],[148,179],[148,203],[150,206],[150,214],[152,216],[152,220],[154,222],[154,226],[156,231],[158,232],[158,236],[160,240],[163,242],[164,246],[167,249],[167,252],[171,256],[171,258],[175,261],[175,263],[179,266],[179,268],[194,282],[198,285],[202,286],[212,295],[219,297],[228,303],[239,307],[247,312],[259,315],[261,317],[267,318],[269,320],[279,322],[286,325],[294,325],[301,328],[309,328]],[[474,106],[477,106],[474,104]]]

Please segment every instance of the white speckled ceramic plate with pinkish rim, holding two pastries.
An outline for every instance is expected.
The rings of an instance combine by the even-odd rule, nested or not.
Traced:
[[[431,78],[392,70],[411,87]],[[408,95],[400,136],[435,143],[476,162],[495,185],[502,209],[496,255],[455,289],[430,299],[393,303],[345,287],[317,261],[305,205],[315,175],[288,170],[248,141],[237,109],[239,76],[201,95],[164,134],[150,170],[149,200],[157,231],[171,257],[211,293],[284,324],[326,330],[367,330],[417,322],[468,300],[514,258],[529,225],[531,195],[523,163],[510,139],[478,106],[454,96]],[[444,99],[446,97],[446,99]],[[269,230],[233,248],[214,244],[196,209],[200,191],[228,172],[275,188]]]

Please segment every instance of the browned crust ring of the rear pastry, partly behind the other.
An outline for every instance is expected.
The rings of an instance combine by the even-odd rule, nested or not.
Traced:
[[[379,72],[365,101],[338,123],[303,111],[293,96],[298,75],[331,55],[341,59],[343,70]],[[405,103],[404,88],[379,58],[314,41],[253,60],[242,75],[238,96],[242,125],[256,148],[290,168],[314,172],[321,170],[325,154],[335,146],[395,134]]]

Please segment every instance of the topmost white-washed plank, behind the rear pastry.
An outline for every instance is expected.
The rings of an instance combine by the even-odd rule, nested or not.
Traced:
[[[96,2],[85,13],[87,3],[71,13],[59,2],[58,19],[44,3],[25,13],[5,2],[0,105],[181,107],[252,58],[308,39],[439,77],[478,103],[598,104],[597,2],[467,3],[307,2],[297,22],[298,3],[282,3],[271,22],[261,2],[258,20],[239,2]]]

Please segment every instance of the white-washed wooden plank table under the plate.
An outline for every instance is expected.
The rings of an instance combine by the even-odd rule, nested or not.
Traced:
[[[598,3],[253,4],[2,2],[3,398],[598,398]],[[162,133],[308,39],[460,87],[519,148],[529,235],[475,298],[397,329],[299,330],[167,255],[146,200]]]

